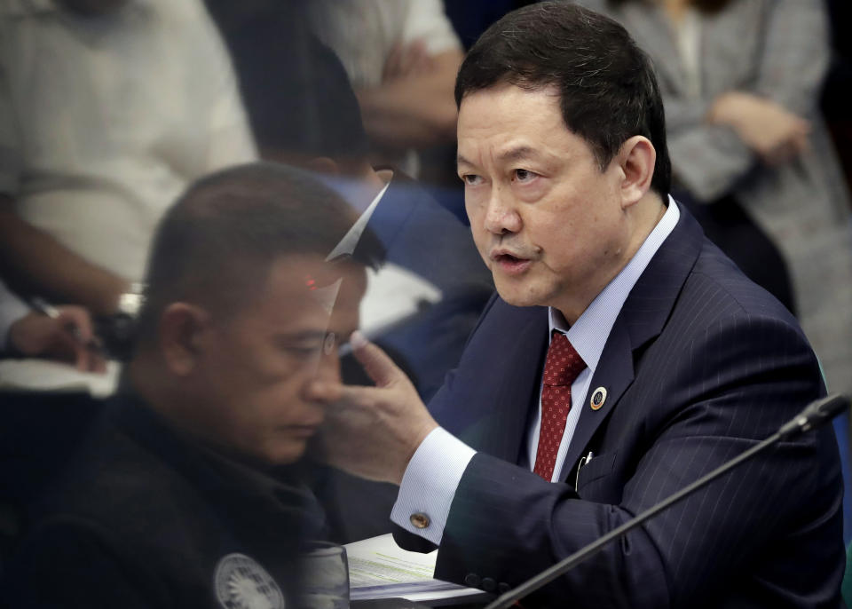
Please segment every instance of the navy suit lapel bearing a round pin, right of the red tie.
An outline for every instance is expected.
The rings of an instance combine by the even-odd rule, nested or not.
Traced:
[[[651,258],[621,308],[589,384],[588,395],[572,404],[583,411],[565,456],[560,474],[563,481],[576,471],[580,456],[588,451],[589,440],[619,406],[624,392],[633,383],[637,350],[659,336],[698,259],[704,234],[686,210],[680,207],[680,212],[675,229]],[[606,390],[606,399],[600,409],[593,410],[589,399],[598,387]],[[625,404],[624,407],[630,406]]]

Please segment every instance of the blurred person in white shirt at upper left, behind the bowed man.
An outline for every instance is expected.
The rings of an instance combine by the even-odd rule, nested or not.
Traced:
[[[170,202],[254,157],[200,0],[0,5],[0,265],[20,294],[115,312]]]

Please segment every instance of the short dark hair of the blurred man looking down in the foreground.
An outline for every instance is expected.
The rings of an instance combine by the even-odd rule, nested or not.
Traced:
[[[304,170],[251,162],[217,171],[190,186],[162,218],[146,273],[139,340],[154,338],[172,302],[187,301],[227,316],[261,289],[282,257],[327,257],[357,216],[328,186]],[[365,230],[359,248],[381,257]],[[329,264],[375,265],[346,258]]]

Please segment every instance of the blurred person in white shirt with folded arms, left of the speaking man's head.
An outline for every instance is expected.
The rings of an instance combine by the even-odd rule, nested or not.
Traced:
[[[455,140],[453,85],[462,49],[443,4],[312,0],[305,6],[314,33],[346,68],[374,162],[421,177],[414,151]]]

